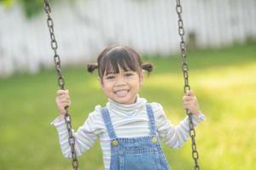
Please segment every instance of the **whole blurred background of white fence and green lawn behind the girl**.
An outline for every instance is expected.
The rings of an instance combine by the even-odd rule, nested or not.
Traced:
[[[61,68],[77,129],[107,98],[86,72],[111,44],[135,48],[154,65],[140,95],[177,124],[185,116],[176,1],[55,0]],[[183,0],[189,82],[207,120],[196,127],[201,169],[256,169],[256,1]],[[0,169],[72,169],[49,125],[58,89],[43,0],[0,0]],[[172,169],[193,169],[190,140],[164,146]],[[103,169],[99,143],[79,157]]]

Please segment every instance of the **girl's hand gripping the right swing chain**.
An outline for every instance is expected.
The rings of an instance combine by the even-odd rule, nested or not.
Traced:
[[[196,96],[191,90],[183,96],[183,107],[195,116],[201,113]]]

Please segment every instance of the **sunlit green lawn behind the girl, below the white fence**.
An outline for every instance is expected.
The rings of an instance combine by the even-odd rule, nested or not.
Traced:
[[[256,169],[256,43],[220,50],[189,52],[189,83],[207,120],[196,127],[201,169]],[[154,64],[140,93],[165,108],[177,124],[183,119],[183,76],[179,56],[144,57]],[[63,70],[73,105],[73,127],[81,125],[95,105],[104,105],[96,73]],[[0,169],[71,169],[61,156],[58,137],[49,125],[57,111],[55,71],[0,79]],[[172,169],[193,169],[190,141],[180,150],[164,146]],[[79,157],[80,169],[103,169],[98,142]]]

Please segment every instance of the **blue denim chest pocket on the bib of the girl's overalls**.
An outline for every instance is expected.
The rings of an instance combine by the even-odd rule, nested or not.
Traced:
[[[160,170],[160,156],[156,148],[122,150],[119,170]]]

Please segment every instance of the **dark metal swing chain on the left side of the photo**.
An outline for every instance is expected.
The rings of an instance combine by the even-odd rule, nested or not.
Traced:
[[[58,44],[55,39],[54,22],[53,22],[52,18],[50,17],[51,8],[50,8],[48,0],[44,0],[44,12],[47,14],[47,26],[49,28],[49,36],[50,36],[50,40],[51,40],[50,45],[55,53],[54,60],[55,60],[55,70],[56,70],[57,76],[58,76],[58,84],[59,84],[59,87],[63,90],[63,89],[65,89],[64,88],[65,82],[64,82],[64,78],[62,77],[62,74],[61,74],[61,59],[60,59],[60,56],[57,54]],[[74,139],[73,132],[72,132],[71,116],[68,114],[68,107],[66,107],[65,110],[66,110],[66,114],[64,116],[64,119],[65,119],[65,122],[67,125],[68,143],[71,147],[72,166],[73,166],[73,169],[77,170],[77,169],[79,169],[79,161],[77,159],[76,151],[74,148],[75,147],[75,139]]]

